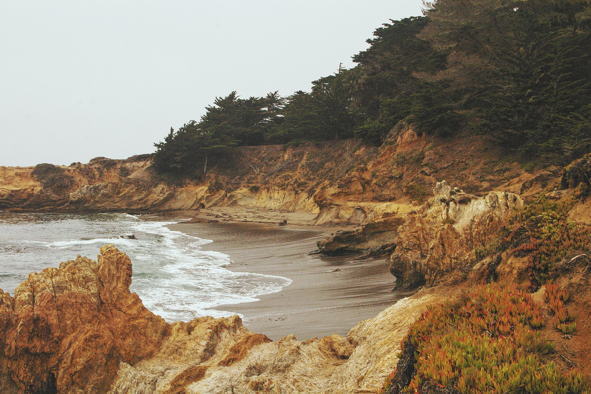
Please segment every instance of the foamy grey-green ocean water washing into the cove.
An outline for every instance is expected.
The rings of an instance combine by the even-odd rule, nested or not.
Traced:
[[[282,276],[229,271],[229,255],[202,250],[211,240],[164,227],[181,219],[157,220],[119,213],[0,212],[0,288],[14,294],[30,272],[59,266],[77,255],[95,260],[108,243],[131,258],[131,291],[169,322],[230,316],[234,313],[218,307],[256,301],[291,284]],[[137,239],[119,237],[129,234]]]

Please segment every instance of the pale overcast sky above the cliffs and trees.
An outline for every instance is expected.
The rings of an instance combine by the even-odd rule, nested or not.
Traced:
[[[0,165],[154,151],[216,96],[283,96],[421,0],[2,0]]]

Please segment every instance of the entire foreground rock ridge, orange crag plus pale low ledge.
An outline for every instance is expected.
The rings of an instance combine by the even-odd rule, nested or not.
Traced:
[[[375,392],[408,324],[442,299],[403,299],[347,337],[271,342],[238,316],[165,323],[129,292],[125,253],[100,252],[31,273],[14,298],[0,291],[0,392]]]

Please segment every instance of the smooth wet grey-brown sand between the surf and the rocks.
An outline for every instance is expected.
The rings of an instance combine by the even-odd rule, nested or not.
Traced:
[[[230,255],[227,268],[290,278],[280,292],[261,295],[260,301],[221,305],[244,315],[255,333],[279,340],[295,334],[298,340],[332,334],[346,335],[361,320],[375,317],[397,299],[395,278],[385,259],[355,261],[355,256],[328,258],[308,255],[316,241],[334,230],[315,226],[259,223],[171,224],[177,230],[213,243],[202,246]]]

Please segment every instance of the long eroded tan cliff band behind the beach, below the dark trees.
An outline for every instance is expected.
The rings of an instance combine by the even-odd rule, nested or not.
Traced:
[[[418,206],[437,181],[485,196],[529,197],[557,180],[558,168],[529,173],[479,136],[434,139],[411,127],[379,148],[357,141],[245,146],[206,175],[177,180],[151,168],[149,155],[96,158],[59,166],[64,180],[40,180],[34,168],[0,167],[0,209],[44,211],[196,210],[243,206],[316,214],[314,224],[361,224],[383,204]]]

